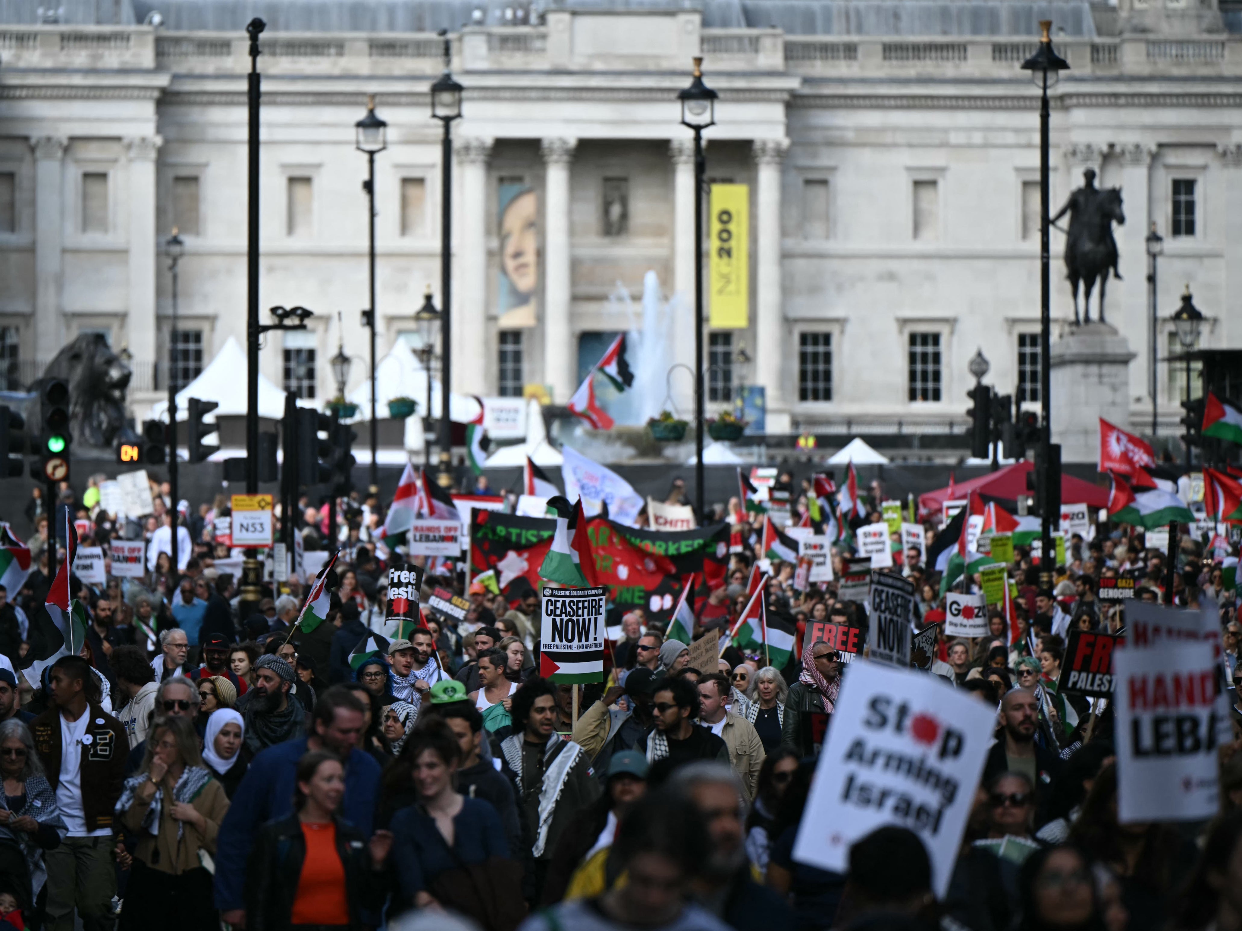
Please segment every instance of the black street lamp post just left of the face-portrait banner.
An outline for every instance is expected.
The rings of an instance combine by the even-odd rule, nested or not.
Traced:
[[[453,191],[453,140],[452,124],[462,115],[462,86],[453,81],[452,47],[448,35],[441,31],[445,40],[445,73],[431,86],[431,115],[443,125],[445,135],[441,143],[440,171],[440,290],[443,310],[441,312],[440,345],[440,474],[436,480],[448,488],[453,482],[452,449],[453,434],[450,420],[448,401],[452,396],[452,191]],[[428,389],[430,391],[430,389]]]

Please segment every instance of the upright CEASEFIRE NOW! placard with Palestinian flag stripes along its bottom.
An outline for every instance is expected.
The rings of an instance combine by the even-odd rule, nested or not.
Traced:
[[[539,675],[551,681],[604,681],[604,588],[543,590]]]

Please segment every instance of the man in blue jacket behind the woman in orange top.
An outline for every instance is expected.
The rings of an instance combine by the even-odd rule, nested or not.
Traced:
[[[267,747],[251,761],[216,838],[216,907],[230,925],[245,926],[246,858],[258,829],[293,811],[298,760],[307,751],[325,750],[340,757],[345,765],[342,814],[363,837],[371,835],[380,766],[358,749],[363,716],[361,700],[335,685],[315,703],[308,736]]]

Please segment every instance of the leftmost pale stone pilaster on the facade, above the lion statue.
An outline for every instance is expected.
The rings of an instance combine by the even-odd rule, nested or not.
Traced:
[[[61,273],[65,247],[63,158],[68,139],[43,135],[35,149],[35,360],[45,365],[65,341]],[[41,374],[41,372],[40,372]]]

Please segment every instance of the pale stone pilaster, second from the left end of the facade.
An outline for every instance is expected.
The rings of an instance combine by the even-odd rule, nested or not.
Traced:
[[[134,356],[135,391],[154,391],[155,371],[155,154],[164,140],[124,140],[129,160],[129,315],[127,343]]]

